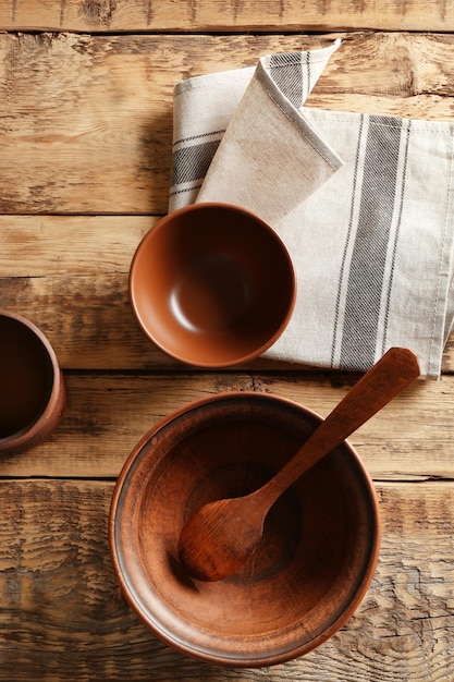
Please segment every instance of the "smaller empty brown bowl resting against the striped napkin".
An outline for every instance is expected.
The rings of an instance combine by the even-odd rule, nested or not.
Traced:
[[[165,216],[131,265],[131,302],[145,333],[199,367],[263,353],[289,322],[295,290],[292,260],[274,230],[229,204],[193,204]]]

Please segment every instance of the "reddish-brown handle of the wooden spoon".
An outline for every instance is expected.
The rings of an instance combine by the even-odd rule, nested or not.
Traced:
[[[260,497],[269,509],[299,476],[384,407],[419,374],[418,361],[412,351],[390,349],[359,379],[290,462],[253,496]]]

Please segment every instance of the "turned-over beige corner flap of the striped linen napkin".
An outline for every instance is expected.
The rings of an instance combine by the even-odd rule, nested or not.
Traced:
[[[324,68],[330,51],[315,63]],[[312,81],[308,56],[262,58],[205,176],[197,202],[246,206],[275,224],[338,171],[343,161],[304,113]],[[315,64],[312,64],[312,71]]]

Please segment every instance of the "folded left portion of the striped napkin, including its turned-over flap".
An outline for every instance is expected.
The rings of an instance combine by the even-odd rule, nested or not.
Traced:
[[[341,168],[302,109],[340,45],[177,84],[169,210],[221,199],[274,223]]]

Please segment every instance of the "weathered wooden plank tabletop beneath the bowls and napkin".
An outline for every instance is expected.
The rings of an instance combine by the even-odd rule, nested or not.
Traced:
[[[47,442],[0,461],[0,679],[452,682],[453,339],[440,381],[351,438],[380,498],[380,561],[355,616],[307,657],[222,669],[160,643],[115,585],[107,520],[123,462],[163,415],[228,389],[326,415],[357,378],[263,361],[199,372],[139,331],[127,275],[167,210],[174,84],[340,36],[310,106],[453,120],[453,3],[1,0],[0,29],[0,307],[47,333],[69,393]]]

